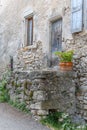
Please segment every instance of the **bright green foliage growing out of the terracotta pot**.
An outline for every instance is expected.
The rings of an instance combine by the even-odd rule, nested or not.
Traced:
[[[66,52],[55,52],[56,56],[59,56],[60,62],[72,62],[73,59],[73,50]]]

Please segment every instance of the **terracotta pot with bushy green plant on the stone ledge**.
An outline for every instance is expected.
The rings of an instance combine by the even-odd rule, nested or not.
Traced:
[[[55,55],[58,56],[60,59],[59,66],[61,70],[72,70],[73,53],[74,53],[73,50],[64,52],[58,52],[58,51],[55,52]]]

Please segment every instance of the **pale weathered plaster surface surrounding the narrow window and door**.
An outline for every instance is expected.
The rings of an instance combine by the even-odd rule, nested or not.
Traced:
[[[58,7],[59,5],[59,7]],[[24,12],[34,14],[34,44],[42,43],[42,59],[49,59],[50,52],[50,23],[56,17],[63,18],[63,40],[71,37],[70,33],[70,1],[51,0],[8,0],[3,1],[0,8],[0,66],[8,64],[9,56],[17,55],[17,50],[25,46],[24,42]],[[67,29],[64,29],[67,27]],[[65,43],[63,43],[65,48]],[[27,59],[26,59],[27,60]],[[46,61],[47,62],[47,61]],[[2,64],[1,64],[2,63]]]

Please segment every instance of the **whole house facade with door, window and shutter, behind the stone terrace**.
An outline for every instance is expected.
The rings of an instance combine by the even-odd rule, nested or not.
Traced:
[[[15,71],[32,71],[52,66],[56,49],[74,50],[77,110],[87,119],[87,1],[72,1],[1,0],[0,71],[10,56]]]

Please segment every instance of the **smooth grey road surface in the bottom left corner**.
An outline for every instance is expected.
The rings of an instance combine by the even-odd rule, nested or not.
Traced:
[[[0,104],[0,130],[49,130],[7,103]]]

